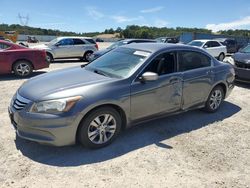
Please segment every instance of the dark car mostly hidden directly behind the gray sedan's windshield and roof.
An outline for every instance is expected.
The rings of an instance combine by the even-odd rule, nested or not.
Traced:
[[[109,46],[108,48],[104,49],[104,50],[99,50],[97,52],[94,52],[91,57],[90,60],[93,61],[99,57],[101,57],[102,55],[110,52],[111,50],[119,47],[119,46],[123,46],[126,44],[131,44],[131,43],[155,43],[157,42],[156,40],[152,40],[152,39],[125,39],[125,40],[120,40],[117,41],[115,43],[113,43],[111,46]]]

